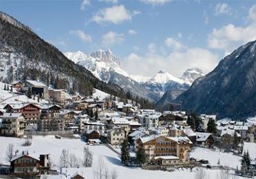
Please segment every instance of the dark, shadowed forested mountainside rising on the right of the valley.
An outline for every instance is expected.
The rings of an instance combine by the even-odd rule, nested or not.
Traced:
[[[176,98],[182,109],[219,118],[256,115],[256,41],[241,46]]]

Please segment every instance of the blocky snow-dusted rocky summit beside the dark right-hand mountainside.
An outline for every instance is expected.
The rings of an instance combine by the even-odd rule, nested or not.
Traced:
[[[192,85],[192,83],[199,77],[204,76],[203,71],[197,67],[189,68],[183,73],[183,76],[181,79],[185,81],[185,83],[188,83]]]

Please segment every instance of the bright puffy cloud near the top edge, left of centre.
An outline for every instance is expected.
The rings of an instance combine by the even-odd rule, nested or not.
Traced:
[[[111,8],[104,8],[97,12],[93,17],[92,21],[97,23],[122,23],[124,21],[129,21],[132,19],[131,12],[125,8],[125,6],[112,6]]]

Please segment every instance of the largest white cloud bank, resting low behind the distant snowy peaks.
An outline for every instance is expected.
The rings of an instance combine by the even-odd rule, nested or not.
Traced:
[[[155,48],[153,44],[151,43],[151,48]],[[190,48],[184,52],[175,51],[167,55],[159,54],[154,49],[154,53],[149,50],[144,56],[129,54],[123,61],[122,67],[131,74],[142,76],[154,76],[159,70],[181,76],[190,67],[199,67],[203,72],[208,73],[217,63],[218,56],[203,48]]]

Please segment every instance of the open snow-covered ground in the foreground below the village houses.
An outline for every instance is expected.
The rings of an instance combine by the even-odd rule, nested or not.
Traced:
[[[6,147],[9,143],[13,143],[15,146],[15,150],[19,149],[19,152],[22,150],[30,151],[30,154],[50,154],[51,159],[57,167],[58,161],[60,159],[60,154],[62,149],[68,149],[69,154],[75,154],[77,158],[82,160],[83,158],[83,148],[85,143],[80,139],[56,139],[54,136],[33,136],[33,144],[30,147],[21,147],[21,144],[24,143],[24,139],[21,138],[7,138],[0,137],[0,162],[2,164],[8,164],[5,158]],[[253,144],[254,147],[256,146]],[[98,165],[98,157],[102,156],[104,158],[105,166],[109,169],[109,171],[115,169],[118,173],[118,178],[124,179],[136,179],[136,178],[145,178],[147,176],[148,179],[156,179],[156,178],[194,178],[194,173],[196,169],[190,171],[190,169],[179,169],[173,172],[169,171],[149,171],[140,168],[129,168],[123,167],[120,162],[120,157],[111,151],[109,148],[102,146],[89,146],[89,149],[93,152],[93,167],[89,168],[80,168],[80,169],[64,169],[63,172],[68,175],[72,175],[76,170],[84,173],[86,178],[93,178],[93,168]],[[192,156],[201,156],[201,158],[209,159],[212,164],[214,164],[217,153],[210,153],[209,149],[196,149]],[[227,165],[231,165],[232,167],[236,166],[239,163],[239,158],[237,156],[232,156],[228,154],[228,156],[224,156],[226,160],[230,160],[231,162],[227,162]],[[222,161],[221,161],[222,162]],[[232,164],[234,162],[234,164]],[[223,161],[224,163],[224,161]],[[220,171],[207,169],[206,170],[207,178],[219,178]],[[48,178],[64,178],[64,176],[48,176]],[[70,176],[69,176],[70,177]]]

